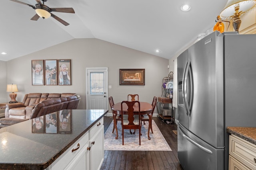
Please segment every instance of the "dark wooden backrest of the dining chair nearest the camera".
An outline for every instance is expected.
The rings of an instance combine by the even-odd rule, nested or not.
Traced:
[[[128,123],[124,123],[124,116],[122,116],[122,125],[124,126],[130,126],[130,125],[140,125],[140,121],[136,120],[136,122],[134,121],[134,104],[138,104],[138,107],[139,107],[139,111],[138,111],[138,115],[139,115],[139,120],[140,120],[140,102],[139,101],[132,101],[132,102],[129,102],[129,101],[122,101],[121,103],[121,114],[124,114],[124,111],[126,110],[123,110],[123,104],[126,103],[126,105],[128,106],[127,108],[127,112],[128,112]],[[126,108],[125,108],[126,109]],[[128,127],[129,129],[133,129],[132,126]]]

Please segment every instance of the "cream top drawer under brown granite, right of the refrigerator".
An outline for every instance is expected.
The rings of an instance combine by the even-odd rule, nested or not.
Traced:
[[[256,145],[235,135],[230,135],[229,141],[229,154],[249,168],[256,169]]]

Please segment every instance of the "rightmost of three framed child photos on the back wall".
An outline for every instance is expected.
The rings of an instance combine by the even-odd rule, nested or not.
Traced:
[[[58,85],[71,85],[71,60],[58,60]]]

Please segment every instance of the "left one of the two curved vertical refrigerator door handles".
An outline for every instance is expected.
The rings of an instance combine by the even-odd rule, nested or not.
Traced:
[[[182,83],[184,85],[184,106],[186,108],[186,112],[187,112],[187,115],[190,115],[191,112],[190,112],[190,107],[189,107],[189,104],[188,104],[188,73],[189,73],[189,69],[190,68],[190,61],[187,62],[186,64],[186,71],[184,73],[184,83]]]

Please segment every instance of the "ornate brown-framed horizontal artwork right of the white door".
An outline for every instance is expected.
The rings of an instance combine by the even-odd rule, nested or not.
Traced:
[[[119,69],[120,85],[145,85],[145,69]]]

